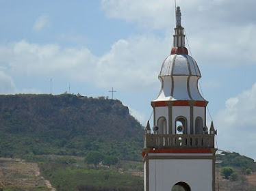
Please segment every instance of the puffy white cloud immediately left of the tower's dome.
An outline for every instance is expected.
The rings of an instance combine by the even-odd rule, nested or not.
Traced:
[[[153,35],[118,40],[99,59],[97,80],[103,86],[111,82],[114,87],[150,87],[157,81],[159,66],[168,56],[168,49],[166,39]]]

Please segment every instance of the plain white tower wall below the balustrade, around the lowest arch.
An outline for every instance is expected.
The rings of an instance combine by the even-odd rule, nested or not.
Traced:
[[[149,191],[170,191],[179,181],[193,191],[212,190],[212,160],[149,160]]]

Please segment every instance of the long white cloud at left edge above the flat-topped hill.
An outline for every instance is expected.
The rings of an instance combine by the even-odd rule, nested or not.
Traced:
[[[0,46],[0,61],[13,74],[44,76],[64,74],[73,78],[87,78],[96,58],[87,48],[61,48],[56,44],[31,44],[25,40]],[[82,74],[85,72],[85,74]]]

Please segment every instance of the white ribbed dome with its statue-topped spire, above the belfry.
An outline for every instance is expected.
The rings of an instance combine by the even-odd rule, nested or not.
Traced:
[[[185,48],[184,28],[181,27],[179,7],[177,7],[176,17],[173,47],[159,72],[158,78],[162,86],[157,99],[153,102],[186,100],[206,103],[198,89],[198,80],[201,78],[199,66],[188,55],[188,49]]]

